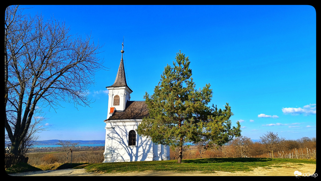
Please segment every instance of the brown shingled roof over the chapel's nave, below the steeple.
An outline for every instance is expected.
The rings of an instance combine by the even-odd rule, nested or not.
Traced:
[[[145,101],[127,101],[124,112],[114,112],[108,120],[114,119],[143,119],[149,115]]]

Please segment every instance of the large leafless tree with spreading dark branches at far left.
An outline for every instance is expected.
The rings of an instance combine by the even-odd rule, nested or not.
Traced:
[[[30,17],[9,6],[4,18],[5,130],[18,155],[38,107],[60,101],[88,106],[87,90],[102,67],[90,36],[70,35],[65,22]]]

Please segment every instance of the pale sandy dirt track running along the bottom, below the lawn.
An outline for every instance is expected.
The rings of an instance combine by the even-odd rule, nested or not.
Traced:
[[[201,172],[172,172],[172,171],[144,171],[127,173],[90,173],[85,169],[64,169],[64,170],[45,170],[12,174],[10,176],[294,176],[295,171],[304,173],[314,173],[315,164],[282,164],[282,167],[253,168],[249,172],[215,172],[204,174]],[[302,176],[301,176],[302,177]]]

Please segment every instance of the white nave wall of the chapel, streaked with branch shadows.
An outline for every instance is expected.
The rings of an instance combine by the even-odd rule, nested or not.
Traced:
[[[168,160],[169,146],[156,145],[137,134],[142,120],[112,120],[106,122],[105,159],[103,162]],[[136,132],[136,146],[128,146],[128,133]]]

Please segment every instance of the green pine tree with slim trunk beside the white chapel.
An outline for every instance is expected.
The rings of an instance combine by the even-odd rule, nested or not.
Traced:
[[[213,93],[210,84],[195,89],[188,56],[179,51],[175,59],[173,67],[165,67],[154,94],[146,92],[149,116],[143,118],[137,132],[156,144],[178,146],[181,163],[184,142],[222,145],[241,131],[239,123],[231,128],[233,113],[228,103],[224,110],[208,106]]]

